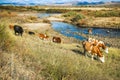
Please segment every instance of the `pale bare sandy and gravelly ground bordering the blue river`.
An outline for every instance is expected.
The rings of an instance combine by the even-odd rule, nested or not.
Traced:
[[[28,15],[27,15],[28,16]],[[30,15],[31,16],[31,15]],[[35,17],[35,16],[33,16],[33,17]],[[37,17],[37,16],[36,16]],[[48,21],[46,21],[46,20],[48,20]],[[35,31],[35,32],[37,32],[37,33],[45,33],[45,34],[48,34],[49,36],[51,36],[50,37],[50,39],[52,40],[52,36],[56,36],[56,35],[59,35],[59,33],[57,32],[56,33],[56,31],[54,31],[53,29],[52,29],[52,25],[51,25],[51,21],[60,21],[60,22],[66,22],[65,20],[65,18],[64,17],[62,17],[62,14],[61,15],[53,15],[53,16],[50,16],[50,17],[48,17],[48,18],[46,18],[46,20],[43,18],[43,19],[40,19],[40,18],[37,18],[36,20],[31,20],[30,22],[32,22],[32,23],[22,23],[23,25],[23,27],[27,27],[27,28],[29,28],[29,30],[33,30],[33,31]],[[28,20],[29,21],[29,20]],[[67,22],[67,23],[70,23],[70,24],[73,24],[73,25],[76,25],[76,24],[74,24],[73,22]],[[79,26],[77,26],[77,27],[79,27]],[[82,26],[83,28],[85,27],[84,25]],[[91,28],[91,26],[86,26],[87,28]],[[96,27],[96,26],[94,26],[94,27],[92,27],[92,28],[111,28],[111,27]],[[36,29],[36,30],[34,30],[34,29]],[[116,29],[116,27],[112,27],[112,29]],[[118,28],[117,28],[118,29]],[[39,30],[39,31],[38,31]],[[53,34],[51,34],[51,33],[53,33]],[[63,39],[63,43],[66,43],[66,42],[68,42],[68,43],[72,43],[72,42],[79,42],[79,40],[75,40],[75,39],[67,39],[67,37],[65,38],[64,36],[62,36],[61,34],[59,35],[62,39]],[[85,38],[88,38],[88,34],[80,34],[80,36],[83,36],[83,37],[85,37]],[[107,46],[109,46],[109,47],[116,47],[116,48],[120,48],[120,45],[118,44],[119,43],[119,41],[120,41],[120,39],[119,38],[111,38],[111,37],[102,37],[102,36],[95,36],[95,35],[90,35],[92,38],[96,38],[96,39],[98,39],[98,40],[102,40],[102,41],[104,41],[106,44],[107,44]]]

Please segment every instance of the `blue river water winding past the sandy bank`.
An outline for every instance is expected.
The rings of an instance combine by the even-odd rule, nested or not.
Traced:
[[[57,13],[55,13],[57,14]],[[49,14],[49,13],[40,13],[38,15],[39,18],[47,18],[54,15],[54,13]],[[80,34],[88,34],[88,29],[89,28],[78,28],[77,26],[74,26],[69,23],[64,23],[64,22],[58,22],[58,21],[52,21],[52,28],[67,36],[67,37],[73,37],[79,40],[86,40],[85,37],[83,37]],[[92,29],[92,35],[97,35],[100,37],[111,37],[111,38],[120,38],[120,29],[104,29],[104,28],[91,28]]]

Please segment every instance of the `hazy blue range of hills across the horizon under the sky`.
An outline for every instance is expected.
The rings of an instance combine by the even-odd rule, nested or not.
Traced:
[[[119,6],[120,1],[99,1],[99,2],[87,2],[87,1],[71,1],[71,2],[55,2],[55,3],[34,3],[34,2],[4,2],[0,3],[2,6]]]

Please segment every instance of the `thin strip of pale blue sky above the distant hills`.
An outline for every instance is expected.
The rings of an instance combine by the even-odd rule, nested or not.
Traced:
[[[120,0],[0,0],[0,3],[10,3],[10,2],[19,2],[19,3],[56,3],[56,2],[73,2],[73,1],[87,1],[87,2],[98,2],[98,1],[120,1]]]

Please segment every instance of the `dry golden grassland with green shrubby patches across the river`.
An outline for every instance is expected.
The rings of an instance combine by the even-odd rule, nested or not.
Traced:
[[[92,8],[94,9],[94,8]],[[112,8],[111,10],[82,10],[78,12],[68,12],[63,14],[66,22],[71,22],[74,19],[74,14],[84,14],[85,19],[72,21],[72,24],[77,26],[92,26],[105,28],[120,28],[119,9]]]

